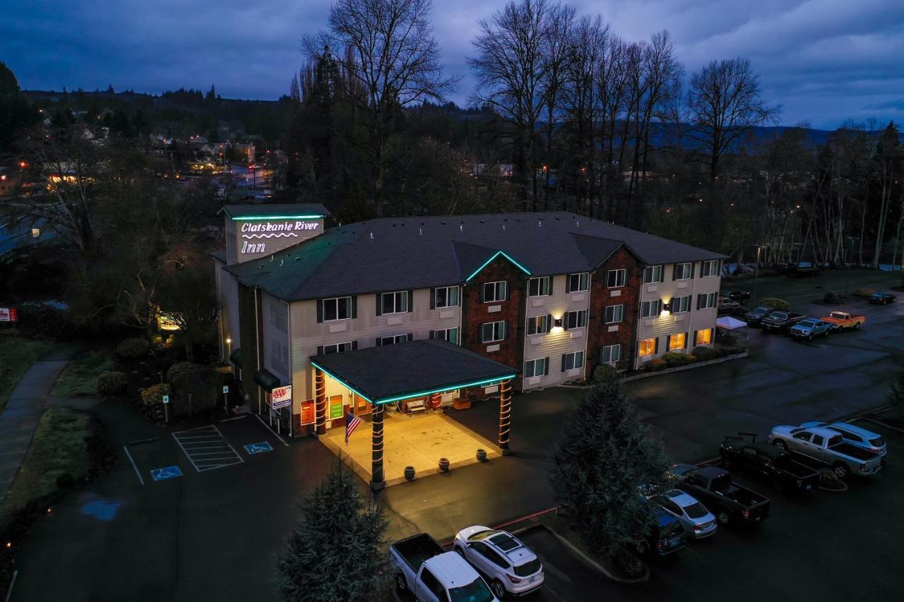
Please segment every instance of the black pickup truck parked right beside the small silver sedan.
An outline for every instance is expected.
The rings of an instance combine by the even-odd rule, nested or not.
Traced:
[[[676,489],[700,500],[720,524],[757,525],[769,516],[769,498],[732,483],[728,471],[716,466],[676,464],[667,476],[674,479]]]

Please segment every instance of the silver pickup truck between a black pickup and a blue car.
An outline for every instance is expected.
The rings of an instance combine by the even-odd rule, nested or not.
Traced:
[[[824,427],[792,427],[779,425],[769,433],[769,442],[786,451],[830,466],[835,475],[875,475],[881,459],[844,441],[841,433]]]

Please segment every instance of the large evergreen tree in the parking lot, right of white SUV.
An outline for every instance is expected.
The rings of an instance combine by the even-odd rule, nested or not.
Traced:
[[[636,542],[652,519],[642,488],[664,485],[662,441],[651,437],[617,382],[589,391],[553,454],[559,512],[596,553]]]

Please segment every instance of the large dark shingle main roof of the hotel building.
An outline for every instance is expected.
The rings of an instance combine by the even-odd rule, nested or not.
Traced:
[[[725,258],[569,212],[496,213],[357,222],[228,269],[297,301],[461,283],[500,250],[535,276],[589,271],[620,246],[646,265]]]

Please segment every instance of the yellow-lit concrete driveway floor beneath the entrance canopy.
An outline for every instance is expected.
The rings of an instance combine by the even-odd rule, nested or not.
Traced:
[[[454,412],[454,409],[450,409]],[[345,429],[331,428],[320,439],[337,456],[348,456],[357,475],[371,481],[372,428],[363,422],[345,445]],[[439,472],[439,458],[451,468],[476,464],[477,449],[489,458],[499,457],[497,447],[444,414],[427,410],[421,414],[400,414],[387,410],[383,420],[383,474],[387,486],[405,482],[405,467],[414,466],[423,477]]]

